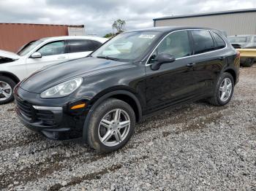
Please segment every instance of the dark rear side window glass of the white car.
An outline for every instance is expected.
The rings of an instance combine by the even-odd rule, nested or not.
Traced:
[[[95,43],[95,41],[91,40],[69,40],[69,53],[94,51],[99,45],[99,42]]]

